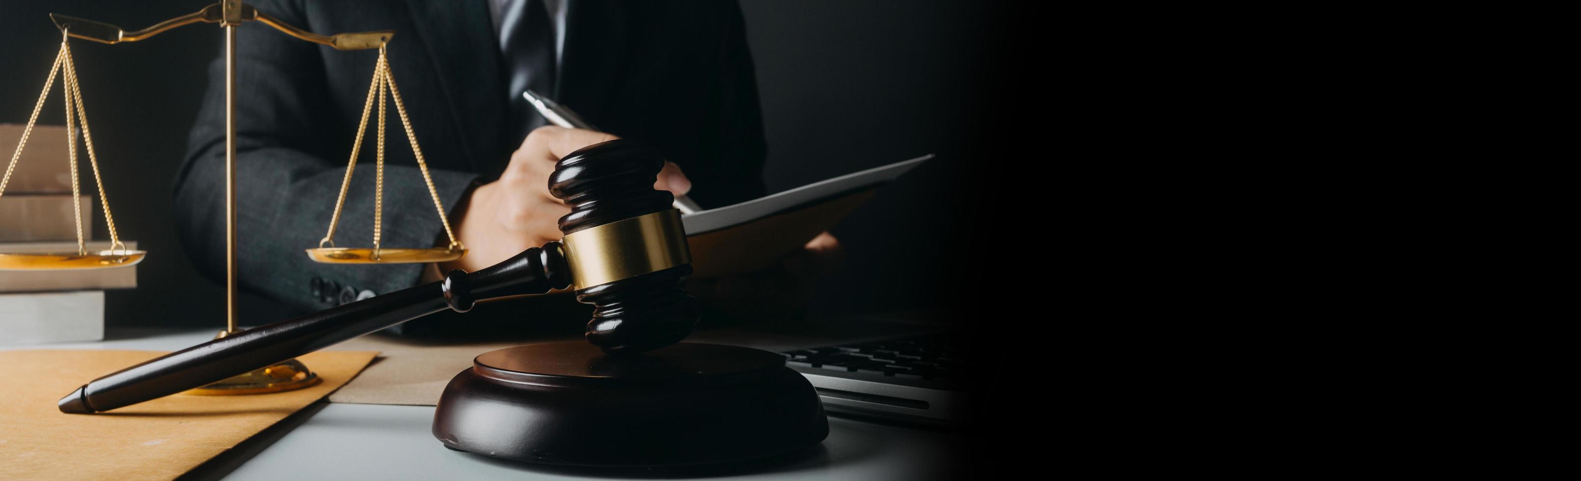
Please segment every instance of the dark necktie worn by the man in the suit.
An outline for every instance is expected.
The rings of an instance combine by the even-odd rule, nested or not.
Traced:
[[[511,76],[508,85],[511,119],[508,134],[520,144],[526,133],[545,123],[522,92],[533,89],[555,98],[555,32],[542,0],[506,0],[500,9],[500,52]]]

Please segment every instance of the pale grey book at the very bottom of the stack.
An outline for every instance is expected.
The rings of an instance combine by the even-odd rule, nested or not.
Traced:
[[[104,291],[0,294],[0,345],[104,339]]]

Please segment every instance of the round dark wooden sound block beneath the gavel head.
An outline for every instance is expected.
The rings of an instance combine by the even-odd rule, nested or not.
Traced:
[[[433,413],[446,448],[566,465],[748,460],[827,435],[817,392],[783,356],[689,342],[613,356],[587,342],[489,351]]]

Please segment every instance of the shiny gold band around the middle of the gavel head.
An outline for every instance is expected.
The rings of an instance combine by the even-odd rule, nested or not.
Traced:
[[[681,212],[675,209],[577,231],[560,242],[571,264],[572,290],[691,263]]]

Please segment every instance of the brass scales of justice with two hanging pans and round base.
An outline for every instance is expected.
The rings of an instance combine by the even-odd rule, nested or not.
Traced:
[[[297,40],[311,41],[324,46],[330,46],[337,51],[365,51],[379,49],[378,62],[373,68],[373,81],[368,85],[367,101],[362,109],[362,120],[357,125],[357,136],[351,147],[351,158],[346,163],[346,176],[340,187],[340,196],[335,199],[335,212],[329,222],[329,231],[324,239],[319,240],[316,248],[307,248],[308,258],[318,263],[329,264],[379,264],[379,263],[444,263],[454,261],[466,255],[466,247],[455,239],[455,233],[451,229],[451,222],[444,214],[440,195],[435,190],[433,180],[428,176],[427,161],[422,157],[422,149],[417,146],[417,138],[413,131],[411,120],[406,117],[406,106],[402,103],[400,89],[395,85],[395,79],[389,70],[389,59],[386,55],[384,46],[389,43],[391,36],[395,35],[394,30],[378,30],[378,32],[357,32],[357,33],[335,33],[335,35],[318,35],[305,32],[302,28],[285,24],[262,11],[258,11],[251,5],[242,3],[240,0],[223,0],[206,6],[204,9],[174,17],[169,21],[158,22],[152,27],[126,32],[120,27],[95,22],[63,14],[51,14],[55,27],[62,32],[60,51],[55,57],[55,65],[51,68],[49,79],[44,82],[44,90],[38,97],[38,103],[33,106],[33,112],[28,117],[27,128],[22,133],[21,142],[6,165],[5,177],[0,179],[0,195],[5,195],[5,184],[9,182],[11,171],[16,168],[22,149],[27,146],[28,134],[38,120],[38,112],[44,106],[44,100],[49,95],[49,89],[54,85],[57,73],[62,76],[62,89],[66,98],[66,130],[70,141],[70,161],[71,161],[71,180],[73,180],[73,201],[76,206],[77,220],[77,252],[73,253],[0,253],[0,269],[16,269],[16,271],[62,271],[62,269],[109,269],[109,267],[125,267],[141,263],[147,253],[142,250],[128,250],[115,231],[115,222],[111,215],[109,198],[104,196],[104,182],[98,171],[98,158],[93,152],[93,139],[89,130],[87,114],[82,109],[82,93],[76,76],[76,66],[71,60],[70,38],[90,40],[104,44],[117,44],[126,41],[141,41],[160,35],[166,30],[183,27],[190,24],[220,24],[225,30],[225,163],[226,163],[226,182],[225,182],[225,206],[226,206],[226,236],[225,236],[225,252],[226,252],[226,329],[218,334],[218,337],[226,337],[240,332],[236,326],[236,28],[243,22],[258,21],[264,25],[274,27],[289,36]],[[386,120],[386,93],[395,103],[395,112],[400,116],[402,127],[405,127],[406,139],[411,142],[413,153],[417,160],[417,168],[422,172],[424,182],[428,187],[428,195],[433,198],[433,207],[440,215],[441,225],[444,225],[444,233],[449,236],[449,245],[446,247],[414,247],[414,248],[386,248],[379,245],[381,237],[381,222],[383,222],[383,199],[384,199],[384,120]],[[375,161],[375,210],[373,210],[373,247],[335,247],[335,226],[340,223],[340,212],[346,201],[346,191],[351,185],[351,174],[357,165],[357,155],[362,149],[362,139],[368,125],[368,114],[373,111],[375,98],[378,100],[378,141],[376,141],[376,161]],[[109,250],[89,252],[85,248],[85,240],[82,236],[82,210],[81,210],[81,195],[77,193],[77,123],[81,125],[82,142],[85,144],[89,163],[92,165],[93,179],[98,185],[100,203],[104,209],[104,222],[111,236]],[[323,381],[316,373],[313,373],[300,361],[289,359],[278,362],[264,369],[258,369],[243,375],[237,375],[209,386],[187,391],[190,394],[262,394],[262,392],[280,392],[308,388]]]

